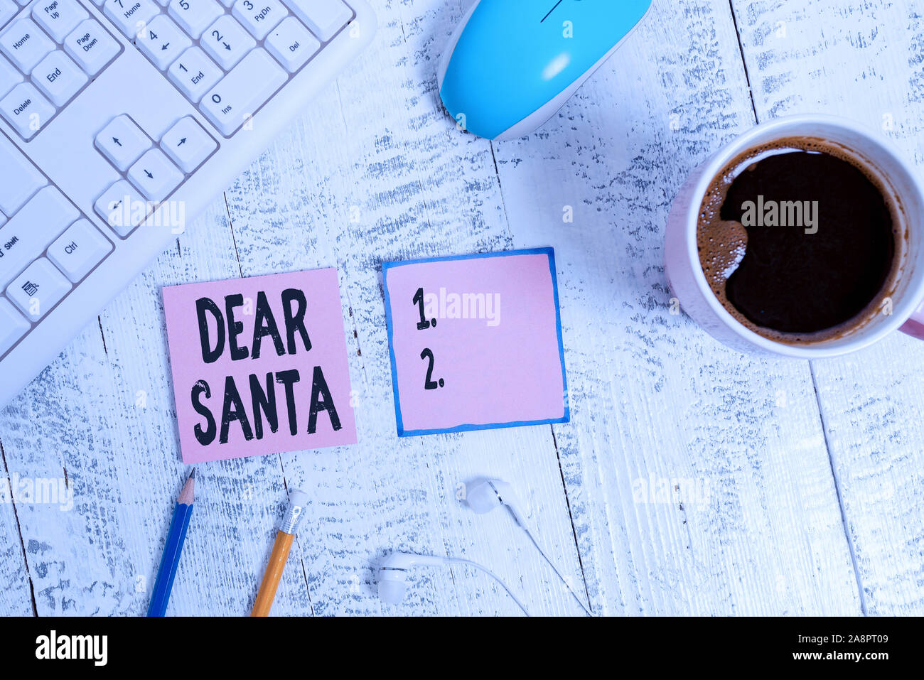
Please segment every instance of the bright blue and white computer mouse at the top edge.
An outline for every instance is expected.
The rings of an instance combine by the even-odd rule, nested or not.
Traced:
[[[539,128],[613,55],[651,0],[477,0],[438,72],[462,128],[512,140]]]

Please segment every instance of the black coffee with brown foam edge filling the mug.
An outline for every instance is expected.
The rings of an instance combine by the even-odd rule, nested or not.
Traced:
[[[819,342],[888,313],[903,222],[854,154],[785,138],[741,153],[712,179],[699,262],[737,321],[774,341]]]

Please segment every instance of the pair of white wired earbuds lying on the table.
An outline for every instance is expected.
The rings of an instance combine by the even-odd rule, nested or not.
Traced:
[[[503,480],[479,480],[468,487],[465,500],[468,507],[479,515],[490,513],[497,507],[505,507],[510,515],[513,516],[514,521],[517,522],[517,526],[526,532],[527,536],[529,536],[529,540],[531,540],[532,544],[536,547],[536,550],[539,551],[549,566],[552,567],[555,576],[565,584],[565,588],[568,589],[568,592],[571,593],[571,596],[577,601],[581,609],[583,609],[588,616],[592,615],[588,607],[577,597],[575,591],[568,585],[565,577],[555,568],[552,560],[542,551],[536,539],[533,538],[532,533],[526,525],[526,515],[520,509],[517,502],[517,494],[514,493],[513,487],[510,486],[510,484]],[[379,568],[379,597],[387,604],[397,604],[402,601],[404,599],[405,590],[407,589],[407,572],[417,565],[468,565],[480,569],[501,584],[507,594],[517,602],[517,606],[523,610],[523,613],[529,616],[529,612],[527,612],[523,603],[517,599],[517,596],[514,595],[511,589],[507,588],[504,581],[494,575],[490,569],[486,566],[479,565],[477,562],[463,560],[458,557],[391,553],[384,559],[382,566]]]

